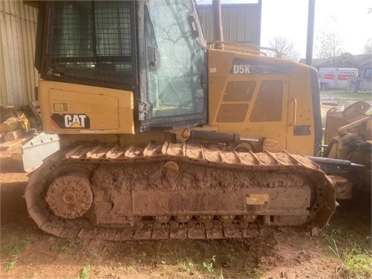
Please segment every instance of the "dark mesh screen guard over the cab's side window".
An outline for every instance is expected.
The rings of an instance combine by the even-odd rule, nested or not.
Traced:
[[[137,82],[133,1],[51,1],[46,70]]]

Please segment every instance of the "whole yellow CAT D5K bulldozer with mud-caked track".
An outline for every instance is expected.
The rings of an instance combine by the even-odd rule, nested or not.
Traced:
[[[30,175],[29,215],[112,240],[324,227],[317,71],[267,50],[207,48],[191,0],[43,2],[38,99],[61,149]]]

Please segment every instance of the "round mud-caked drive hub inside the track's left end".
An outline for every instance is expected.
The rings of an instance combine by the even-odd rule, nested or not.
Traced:
[[[56,177],[45,199],[55,215],[68,219],[81,217],[93,202],[88,176],[75,172]]]

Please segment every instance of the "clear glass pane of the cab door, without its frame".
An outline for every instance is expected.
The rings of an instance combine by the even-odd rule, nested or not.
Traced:
[[[151,0],[146,5],[147,96],[153,118],[205,110],[204,49],[195,40],[191,1]]]

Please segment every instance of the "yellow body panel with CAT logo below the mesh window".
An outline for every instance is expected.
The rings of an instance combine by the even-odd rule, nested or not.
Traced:
[[[133,92],[39,81],[42,121],[49,134],[134,134]]]

